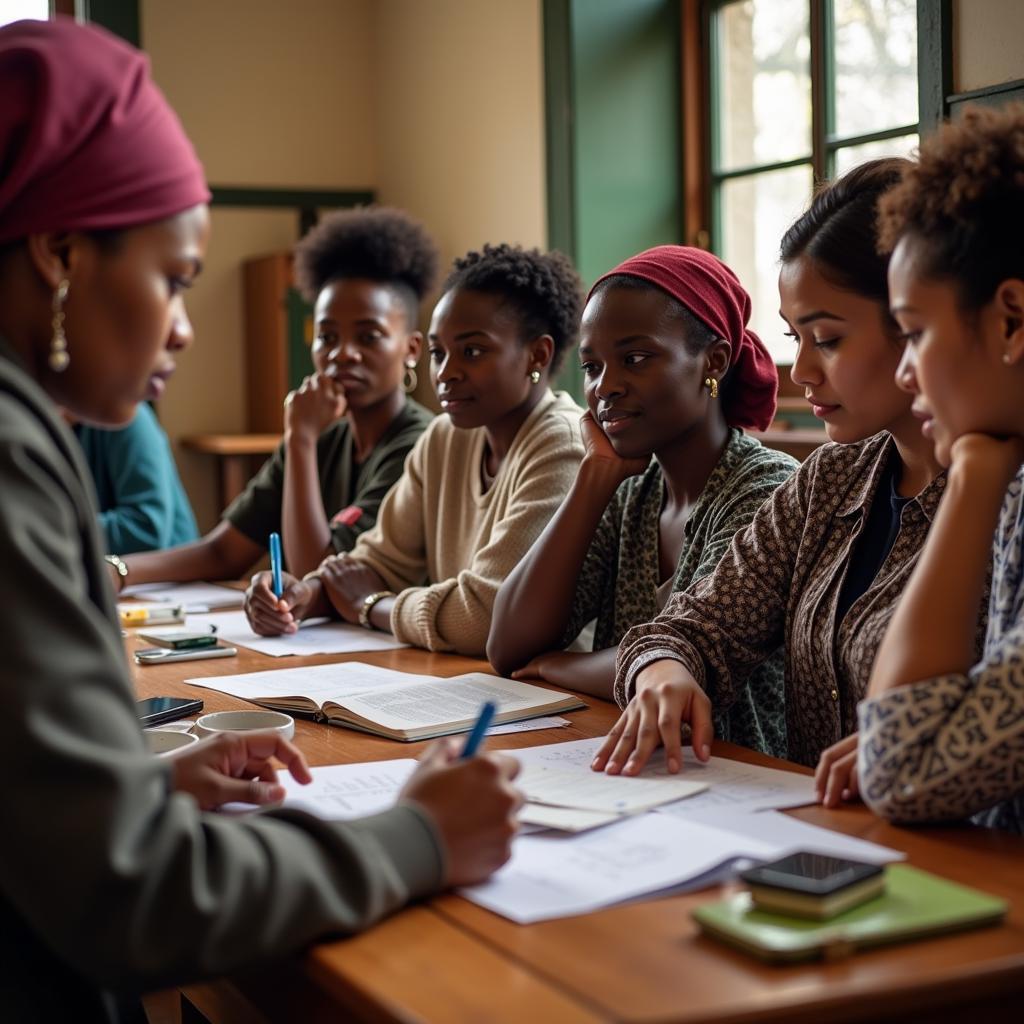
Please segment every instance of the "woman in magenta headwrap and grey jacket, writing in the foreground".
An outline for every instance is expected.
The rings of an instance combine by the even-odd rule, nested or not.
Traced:
[[[508,855],[508,760],[435,749],[399,802],[346,824],[269,803],[266,735],[153,757],[88,470],[58,406],[117,425],[191,341],[209,194],[145,58],[106,33],[0,30],[0,990],[5,1019],[111,1021],[147,987],[361,928]],[[134,1011],[138,1011],[137,1001]]]

